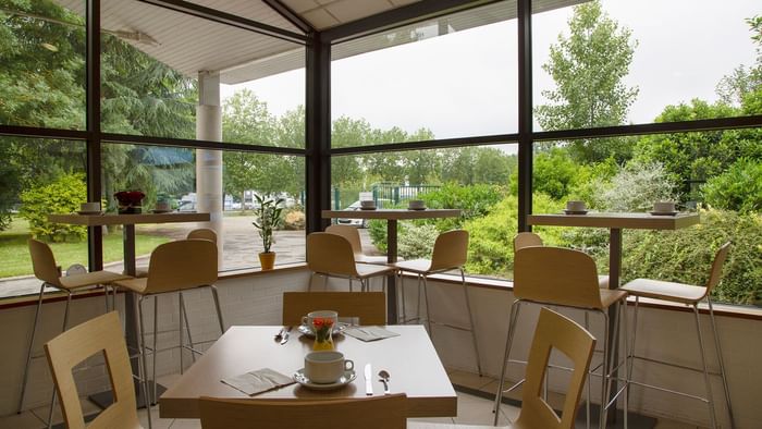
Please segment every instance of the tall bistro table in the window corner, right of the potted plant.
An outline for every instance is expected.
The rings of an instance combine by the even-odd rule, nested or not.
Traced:
[[[413,219],[457,218],[459,209],[376,209],[376,210],[323,210],[324,219],[352,218],[352,219],[385,219],[386,220],[386,262],[397,261],[397,221]],[[386,279],[386,311],[388,320],[397,320],[397,290],[394,275]]]

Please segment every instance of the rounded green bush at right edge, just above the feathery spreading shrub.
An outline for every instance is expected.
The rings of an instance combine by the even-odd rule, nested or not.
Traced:
[[[701,189],[713,208],[740,212],[762,211],[762,161],[740,159]]]

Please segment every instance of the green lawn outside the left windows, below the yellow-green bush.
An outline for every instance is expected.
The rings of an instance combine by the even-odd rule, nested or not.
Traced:
[[[14,218],[11,228],[0,232],[0,279],[14,275],[32,274],[32,259],[26,241],[29,238],[27,222]],[[137,234],[135,254],[149,254],[156,246],[167,243],[168,237]],[[65,270],[72,263],[87,266],[87,242],[49,243],[56,256],[56,262]],[[122,260],[122,234],[103,236],[103,263]]]

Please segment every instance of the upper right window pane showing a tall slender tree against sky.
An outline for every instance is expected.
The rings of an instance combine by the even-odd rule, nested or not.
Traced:
[[[759,3],[586,2],[532,16],[536,130],[759,114]],[[711,60],[708,60],[711,59]]]

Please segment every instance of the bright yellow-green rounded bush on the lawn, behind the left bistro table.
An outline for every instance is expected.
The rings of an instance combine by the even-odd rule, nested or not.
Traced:
[[[33,237],[61,243],[87,236],[85,226],[48,221],[48,214],[71,213],[79,210],[79,205],[87,201],[84,175],[61,175],[56,182],[24,191],[21,200],[20,213],[29,221]]]

